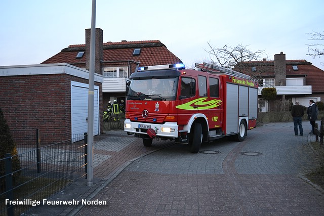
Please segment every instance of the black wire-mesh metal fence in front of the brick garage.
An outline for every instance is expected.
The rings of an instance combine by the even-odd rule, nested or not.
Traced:
[[[0,176],[0,215],[21,215],[37,201],[49,198],[87,175],[87,135],[73,135],[63,142],[41,146],[17,145],[18,154],[6,154],[5,175]],[[13,169],[13,161],[20,168]]]

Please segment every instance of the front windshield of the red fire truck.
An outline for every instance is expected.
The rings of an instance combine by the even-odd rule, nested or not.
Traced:
[[[158,100],[172,101],[177,96],[179,77],[147,77],[132,79],[128,100]]]

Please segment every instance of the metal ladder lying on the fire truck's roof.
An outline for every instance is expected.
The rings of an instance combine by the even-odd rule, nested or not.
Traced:
[[[207,71],[210,73],[227,74],[227,75],[237,76],[240,78],[251,79],[251,76],[246,75],[244,73],[240,73],[240,72],[237,72],[237,71],[229,69],[229,68],[224,68],[224,67],[221,67],[218,65],[209,64],[209,63],[205,63],[205,62],[203,64],[195,63],[195,67],[200,70],[204,70],[204,71]]]

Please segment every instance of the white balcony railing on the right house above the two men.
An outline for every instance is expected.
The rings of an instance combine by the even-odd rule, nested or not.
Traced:
[[[258,95],[261,95],[263,88],[269,87],[259,87]],[[310,95],[312,94],[311,85],[287,85],[287,86],[276,86],[277,95]]]

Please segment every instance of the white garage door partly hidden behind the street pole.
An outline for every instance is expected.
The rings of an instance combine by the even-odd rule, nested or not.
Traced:
[[[99,87],[94,88],[94,125],[93,135],[99,135]],[[71,122],[72,138],[76,134],[84,134],[88,131],[88,94],[89,85],[71,81]]]

